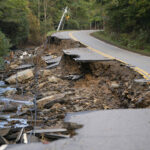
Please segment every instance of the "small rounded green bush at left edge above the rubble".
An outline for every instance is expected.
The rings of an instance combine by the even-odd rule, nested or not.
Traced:
[[[10,47],[9,39],[0,31],[0,57],[7,55]]]

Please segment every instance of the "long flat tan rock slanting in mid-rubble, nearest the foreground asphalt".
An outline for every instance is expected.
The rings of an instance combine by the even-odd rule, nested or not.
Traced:
[[[52,96],[44,97],[37,101],[38,108],[43,108],[45,105],[52,106],[55,103],[58,103],[65,97],[65,94],[56,94]]]

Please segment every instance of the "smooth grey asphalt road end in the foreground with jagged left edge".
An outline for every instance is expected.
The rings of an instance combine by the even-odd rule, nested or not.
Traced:
[[[83,124],[71,139],[51,144],[8,146],[9,150],[149,150],[150,109],[107,110],[68,114],[66,121]],[[7,149],[6,149],[7,150]]]

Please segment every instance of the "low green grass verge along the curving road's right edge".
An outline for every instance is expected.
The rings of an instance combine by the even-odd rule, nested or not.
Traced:
[[[123,49],[126,49],[128,51],[136,52],[136,53],[139,53],[142,55],[150,56],[150,48],[145,48],[145,49],[141,50],[141,49],[136,49],[136,48],[126,46],[126,45],[124,45],[121,37],[119,40],[116,40],[115,38],[112,38],[108,33],[104,32],[104,31],[94,32],[91,35],[94,36],[95,38],[99,39],[99,40],[102,40],[106,43],[115,45],[119,48],[123,48]],[[129,39],[127,39],[127,40],[130,41]],[[134,41],[131,41],[131,42],[134,42]]]

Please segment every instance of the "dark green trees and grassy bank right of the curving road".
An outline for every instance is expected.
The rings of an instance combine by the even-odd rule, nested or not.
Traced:
[[[99,4],[104,31],[93,36],[150,55],[150,1],[101,0]]]

